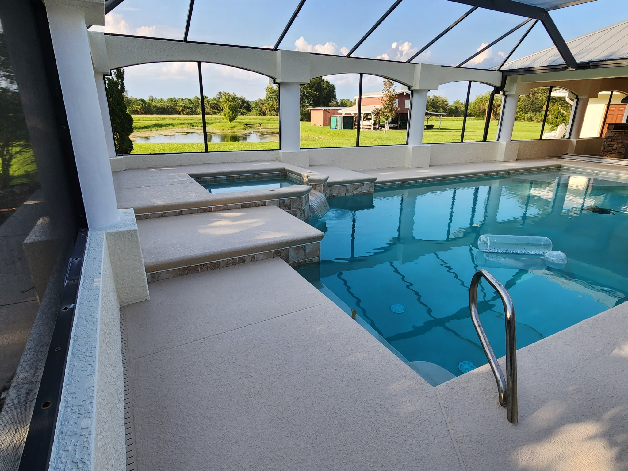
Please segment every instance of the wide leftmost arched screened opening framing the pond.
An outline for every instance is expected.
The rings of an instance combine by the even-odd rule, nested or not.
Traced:
[[[119,72],[114,77],[119,77],[118,91],[123,87],[124,106],[114,104],[116,87],[106,78],[118,154],[279,148],[278,91],[265,75],[202,62],[147,63],[122,70],[123,81]],[[124,120],[132,127],[121,131],[117,128]],[[121,132],[128,133],[128,141]]]

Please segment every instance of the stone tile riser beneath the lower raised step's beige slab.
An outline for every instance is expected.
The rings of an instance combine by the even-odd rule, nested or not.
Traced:
[[[227,268],[228,266],[241,263],[249,263],[258,260],[266,260],[269,258],[279,257],[290,266],[300,266],[306,263],[317,263],[320,261],[320,242],[312,242],[311,244],[302,244],[293,247],[284,247],[268,252],[259,252],[255,254],[247,254],[239,257],[232,257],[222,260],[215,260],[207,263],[199,263],[188,265],[169,270],[153,271],[146,273],[148,283],[159,281],[160,279],[175,278],[175,276],[183,276],[192,273],[200,273],[203,271],[217,270]]]

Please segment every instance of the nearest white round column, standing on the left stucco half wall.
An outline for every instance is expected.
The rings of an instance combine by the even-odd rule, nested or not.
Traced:
[[[119,220],[85,14],[46,2],[50,35],[89,227]]]

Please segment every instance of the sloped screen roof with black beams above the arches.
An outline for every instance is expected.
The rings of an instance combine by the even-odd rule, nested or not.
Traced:
[[[621,45],[596,55],[578,41],[628,20],[626,0],[107,0],[106,7],[106,26],[93,30],[398,62],[501,70],[537,52],[543,57],[534,63],[571,67],[628,55]]]

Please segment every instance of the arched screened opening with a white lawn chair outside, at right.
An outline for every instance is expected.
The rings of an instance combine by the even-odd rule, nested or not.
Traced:
[[[537,87],[519,95],[513,141],[566,139],[577,96],[560,87]]]

